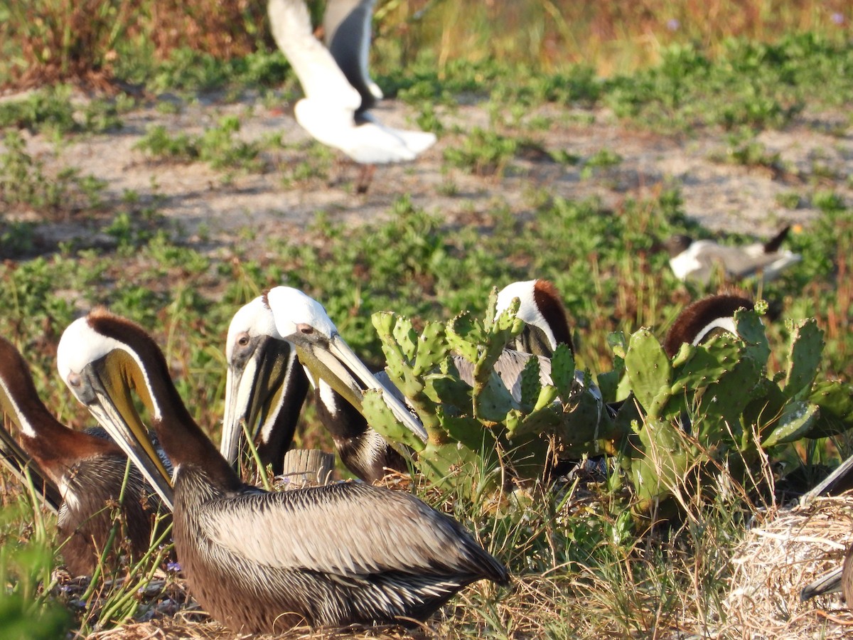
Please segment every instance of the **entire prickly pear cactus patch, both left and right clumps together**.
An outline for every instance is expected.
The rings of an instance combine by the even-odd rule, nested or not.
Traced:
[[[853,427],[851,387],[815,383],[822,334],[814,321],[793,329],[786,372],[775,375],[767,373],[760,311],[735,314],[740,337],[684,345],[671,361],[648,329],[627,340],[612,335],[613,370],[598,381],[605,399],[626,399],[614,418],[590,393],[589,380],[575,379],[565,346],[550,361],[524,364],[513,399],[495,364],[523,324],[517,306],[498,316],[495,307],[493,292],[485,319],[461,314],[446,325],[426,323],[421,335],[405,318],[373,318],[388,373],[421,416],[428,441],[398,424],[379,393],[365,395],[365,415],[387,439],[416,452],[428,480],[462,495],[494,491],[505,474],[539,477],[552,445],[563,456],[603,451],[618,457],[634,485],[634,513],[646,518],[675,509],[672,490],[684,483],[710,495],[715,485],[708,480],[721,466],[746,480],[758,447]],[[473,386],[461,381],[451,354],[472,364]],[[550,384],[541,379],[546,365]]]

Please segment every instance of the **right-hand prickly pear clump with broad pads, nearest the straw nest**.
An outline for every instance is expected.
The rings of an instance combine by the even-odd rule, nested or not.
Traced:
[[[640,409],[618,455],[641,517],[667,512],[659,509],[679,486],[705,495],[720,468],[746,483],[761,450],[853,427],[850,386],[815,384],[823,334],[814,320],[793,325],[786,371],[775,375],[760,314],[741,310],[734,322],[738,335],[682,345],[671,362],[647,329],[631,335],[627,349],[624,340],[613,343]],[[624,431],[627,419],[614,422],[612,433]]]

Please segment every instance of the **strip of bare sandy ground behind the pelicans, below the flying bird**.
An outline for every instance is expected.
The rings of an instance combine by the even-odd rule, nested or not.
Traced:
[[[527,114],[522,123],[533,117],[548,119],[548,130],[522,125],[520,130],[508,129],[506,135],[531,138],[547,150],[564,149],[580,159],[577,165],[561,165],[544,154],[521,154],[502,177],[474,176],[444,161],[444,149],[462,143],[463,134],[449,134],[414,163],[380,166],[368,194],[356,195],[353,184],[359,168],[338,152],[330,176],[289,184],[282,180],[292,166],[310,160],[312,144],[285,104],[269,107],[260,101],[223,104],[208,99],[182,103],[180,113],[162,111],[152,101],[123,114],[124,125],[118,131],[69,137],[60,144],[25,132],[28,150],[44,161],[48,173],[76,167],[83,175],[106,181],[107,212],[125,191],[135,191],[143,201],[157,195],[160,214],[180,236],[198,241],[201,248],[227,245],[244,227],[260,238],[298,235],[316,212],[325,212],[333,222],[361,224],[390,215],[392,201],[403,194],[409,194],[416,206],[453,221],[495,207],[523,215],[533,206],[531,194],[540,190],[574,199],[595,195],[606,205],[618,206],[625,198],[677,186],[688,217],[711,230],[756,236],[772,235],[786,222],[808,224],[815,216],[809,195],[817,189],[833,189],[848,201],[851,196],[847,177],[853,173],[853,131],[845,113],[806,113],[785,131],[761,133],[757,142],[769,154],[780,154],[784,171],[775,172],[713,160],[727,151],[722,131],[662,136],[627,128],[606,111],[546,105]],[[214,170],[200,161],[156,160],[134,148],[151,125],[198,134],[226,114],[240,117],[239,135],[247,141],[281,137],[281,148],[264,151],[259,172]],[[412,126],[414,113],[402,102],[386,101],[378,115],[389,125]],[[483,104],[438,108],[438,116],[448,131],[452,125],[460,125],[462,131],[489,126]],[[615,151],[623,160],[583,177],[584,161],[601,149]],[[815,166],[832,177],[817,180],[812,176]],[[777,196],[791,193],[800,196],[798,206],[783,207]],[[6,215],[44,221],[43,214],[26,208],[7,209]],[[96,218],[89,213],[54,216],[38,228],[38,244],[50,247],[71,238],[82,245],[92,242]]]

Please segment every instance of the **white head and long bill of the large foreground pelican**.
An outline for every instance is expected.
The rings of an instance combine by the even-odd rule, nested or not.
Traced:
[[[142,403],[150,408],[153,420],[162,417],[154,402],[152,379],[142,364],[140,354],[118,337],[126,320],[107,311],[92,311],[71,323],[62,334],[56,352],[56,365],[71,392],[128,457],[136,461],[146,480],[172,508],[169,474],[142,423],[131,398],[136,390]],[[114,325],[109,334],[103,327]],[[163,362],[165,367],[165,362]]]

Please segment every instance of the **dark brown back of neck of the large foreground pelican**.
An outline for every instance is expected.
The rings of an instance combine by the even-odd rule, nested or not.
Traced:
[[[232,489],[242,486],[240,478],[230,468],[225,459],[219,455],[218,449],[211,440],[201,431],[195,423],[193,416],[177,388],[171,381],[169,366],[165,362],[165,356],[160,351],[160,346],[148,335],[145,329],[130,320],[116,316],[105,309],[91,311],[88,316],[89,326],[101,335],[106,335],[113,340],[128,346],[131,351],[136,352],[142,363],[148,369],[145,375],[152,387],[151,393],[157,399],[157,404],[162,413],[161,422],[181,425],[183,428],[157,429],[160,445],[171,459],[175,468],[183,463],[209,465],[207,473],[215,477],[223,485]],[[142,372],[140,372],[142,373]],[[137,387],[143,387],[137,384]],[[137,388],[137,393],[142,392]],[[154,428],[157,428],[156,420],[152,416]]]

